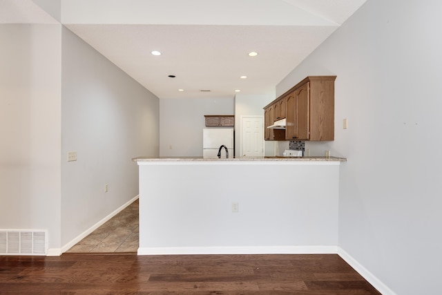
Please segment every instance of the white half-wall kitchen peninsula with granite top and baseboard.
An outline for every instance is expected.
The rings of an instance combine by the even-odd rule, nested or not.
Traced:
[[[344,158],[134,158],[138,254],[336,253]]]

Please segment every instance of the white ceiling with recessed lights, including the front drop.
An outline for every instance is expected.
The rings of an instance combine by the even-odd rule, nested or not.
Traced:
[[[0,0],[0,23],[58,23],[36,3],[61,8],[64,26],[157,97],[185,99],[273,95],[366,0],[50,1]]]

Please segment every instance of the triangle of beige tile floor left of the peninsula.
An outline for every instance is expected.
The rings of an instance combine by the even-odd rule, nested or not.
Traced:
[[[138,222],[138,200],[135,200],[67,253],[136,252]]]

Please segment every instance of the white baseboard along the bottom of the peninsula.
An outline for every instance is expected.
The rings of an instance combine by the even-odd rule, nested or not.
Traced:
[[[190,254],[336,254],[336,246],[269,247],[140,247],[138,255]]]

